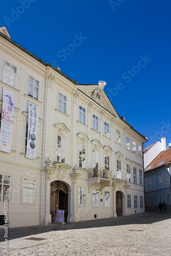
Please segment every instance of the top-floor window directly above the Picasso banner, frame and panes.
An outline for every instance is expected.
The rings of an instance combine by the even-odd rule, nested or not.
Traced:
[[[3,82],[13,88],[15,88],[16,85],[16,71],[17,69],[13,65],[7,61],[4,62]]]

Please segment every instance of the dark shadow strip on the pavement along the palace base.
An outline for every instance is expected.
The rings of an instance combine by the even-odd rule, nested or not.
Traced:
[[[95,219],[91,221],[80,221],[76,223],[53,223],[45,226],[28,226],[8,228],[8,240],[33,236],[34,234],[45,233],[50,231],[95,228],[95,227],[109,227],[129,224],[152,224],[155,222],[171,219],[171,212],[167,214],[159,214],[159,212],[143,212],[142,214],[134,214],[130,216],[121,216],[117,218]],[[0,242],[4,241],[5,230],[0,229]]]

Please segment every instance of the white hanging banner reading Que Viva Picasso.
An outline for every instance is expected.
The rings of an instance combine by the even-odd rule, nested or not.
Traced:
[[[11,152],[14,123],[14,93],[3,88],[0,151]]]

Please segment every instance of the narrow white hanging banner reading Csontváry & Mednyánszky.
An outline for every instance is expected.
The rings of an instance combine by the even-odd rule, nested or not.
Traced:
[[[37,132],[38,132],[38,106],[29,102],[29,120],[26,157],[36,158]]]

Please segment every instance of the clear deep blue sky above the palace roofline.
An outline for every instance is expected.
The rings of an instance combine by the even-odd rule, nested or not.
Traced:
[[[171,142],[170,0],[6,0],[0,26],[78,83],[106,81],[120,116]]]

